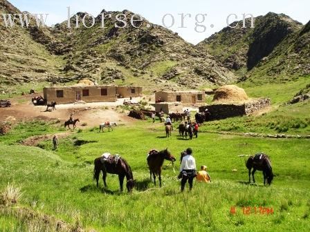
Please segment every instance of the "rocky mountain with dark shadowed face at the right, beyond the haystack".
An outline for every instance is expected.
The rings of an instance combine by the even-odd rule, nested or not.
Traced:
[[[231,24],[235,26],[237,22]],[[310,74],[309,23],[269,12],[255,18],[255,28],[226,27],[197,45],[233,70],[241,80],[286,81]]]

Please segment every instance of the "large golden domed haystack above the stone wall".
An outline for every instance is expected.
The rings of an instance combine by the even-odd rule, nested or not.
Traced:
[[[243,88],[239,88],[238,86],[222,86],[215,90],[215,96],[213,97],[213,101],[246,101],[248,100],[248,95],[246,95],[246,91]]]

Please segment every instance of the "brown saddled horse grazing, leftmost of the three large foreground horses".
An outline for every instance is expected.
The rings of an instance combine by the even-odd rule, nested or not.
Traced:
[[[99,175],[102,172],[102,180],[104,186],[107,188],[106,177],[107,173],[117,174],[118,180],[120,181],[120,191],[122,191],[122,185],[124,182],[124,178],[126,177],[127,183],[127,191],[131,192],[134,189],[134,176],[132,175],[131,168],[127,161],[122,157],[116,157],[114,155],[110,155],[107,159],[103,159],[103,157],[99,157],[95,159],[95,168],[93,169],[93,179],[97,181],[97,187],[99,186]]]

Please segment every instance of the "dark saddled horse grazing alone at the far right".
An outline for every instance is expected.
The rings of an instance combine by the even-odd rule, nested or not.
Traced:
[[[273,180],[273,168],[271,167],[271,160],[268,155],[258,153],[255,156],[248,157],[248,160],[246,161],[246,168],[248,168],[248,182],[250,182],[250,171],[253,168],[252,176],[254,183],[254,173],[256,170],[258,170],[263,172],[264,185],[266,185],[266,180],[268,185],[271,185],[271,182]]]

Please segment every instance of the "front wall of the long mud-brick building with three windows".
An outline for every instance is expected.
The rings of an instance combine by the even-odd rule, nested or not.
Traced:
[[[101,89],[107,89],[107,95],[101,95]],[[57,90],[63,90],[64,97],[57,97]],[[89,90],[89,96],[83,96],[83,90]],[[44,99],[48,102],[56,101],[57,104],[70,104],[77,100],[77,92],[80,100],[85,102],[112,102],[116,101],[115,86],[72,86],[44,88]]]

